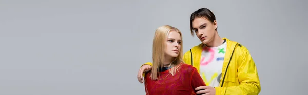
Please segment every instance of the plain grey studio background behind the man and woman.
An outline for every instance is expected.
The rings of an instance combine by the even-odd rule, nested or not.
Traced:
[[[260,94],[306,94],[307,1],[0,1],[0,94],[145,94],[155,29],[207,7],[221,37],[246,46]]]

